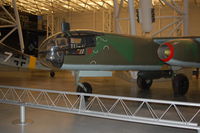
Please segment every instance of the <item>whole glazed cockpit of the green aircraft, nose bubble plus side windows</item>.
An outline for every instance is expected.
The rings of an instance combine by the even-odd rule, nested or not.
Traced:
[[[39,47],[40,63],[50,69],[60,69],[64,58],[68,56],[83,56],[87,48],[96,46],[97,33],[71,31],[57,33],[46,40]]]

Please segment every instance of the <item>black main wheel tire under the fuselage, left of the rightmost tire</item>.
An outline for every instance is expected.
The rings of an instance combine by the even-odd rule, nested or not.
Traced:
[[[153,83],[152,79],[146,80],[141,76],[138,76],[137,78],[137,86],[142,90],[148,90],[151,87],[152,83]]]

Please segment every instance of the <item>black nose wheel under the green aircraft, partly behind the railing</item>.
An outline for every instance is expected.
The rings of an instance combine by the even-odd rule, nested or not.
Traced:
[[[89,83],[87,83],[87,82],[79,83],[78,87],[76,89],[76,92],[92,93],[92,86]],[[89,98],[90,98],[89,96],[85,96],[85,100],[86,101]]]

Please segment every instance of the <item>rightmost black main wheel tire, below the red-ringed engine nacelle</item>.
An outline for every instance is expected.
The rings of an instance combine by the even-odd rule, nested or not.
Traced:
[[[177,74],[172,79],[172,86],[175,96],[183,96],[189,89],[189,80],[184,74]]]

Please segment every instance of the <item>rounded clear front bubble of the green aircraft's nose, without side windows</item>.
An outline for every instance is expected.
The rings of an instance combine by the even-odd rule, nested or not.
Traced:
[[[67,46],[67,38],[62,33],[47,38],[39,47],[40,63],[51,69],[61,68]]]

